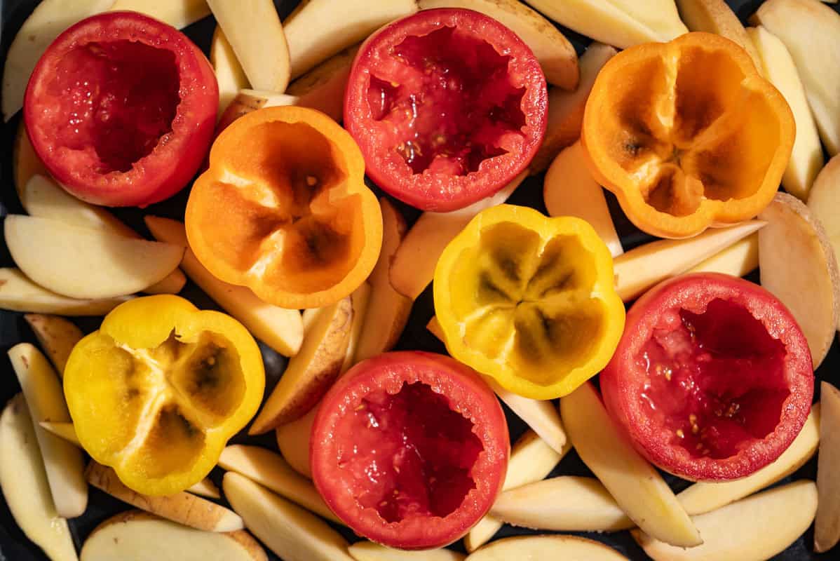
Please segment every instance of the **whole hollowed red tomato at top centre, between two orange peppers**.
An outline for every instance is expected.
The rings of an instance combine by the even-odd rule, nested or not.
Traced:
[[[371,35],[344,96],[344,125],[377,185],[423,210],[489,197],[543,140],[545,76],[493,18],[423,10]]]

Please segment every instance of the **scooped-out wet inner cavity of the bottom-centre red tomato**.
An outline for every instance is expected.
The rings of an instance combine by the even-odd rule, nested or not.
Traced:
[[[337,427],[339,440],[354,443],[339,451],[339,467],[352,474],[359,504],[386,522],[443,517],[475,489],[470,469],[483,447],[472,428],[421,382],[396,395],[374,391]]]

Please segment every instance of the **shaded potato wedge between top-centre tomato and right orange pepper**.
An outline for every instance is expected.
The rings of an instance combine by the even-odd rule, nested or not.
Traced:
[[[580,81],[575,90],[566,92],[558,87],[549,89],[549,123],[545,128],[543,144],[528,165],[531,175],[542,173],[560,150],[580,139],[583,112],[595,78],[606,61],[617,53],[611,46],[592,43],[580,55]]]

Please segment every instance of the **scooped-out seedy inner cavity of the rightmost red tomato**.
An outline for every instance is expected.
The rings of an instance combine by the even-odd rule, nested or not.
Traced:
[[[790,396],[785,345],[721,299],[706,312],[680,310],[680,319],[644,345],[639,359],[648,378],[639,398],[673,431],[672,444],[694,457],[729,458],[779,424]]]

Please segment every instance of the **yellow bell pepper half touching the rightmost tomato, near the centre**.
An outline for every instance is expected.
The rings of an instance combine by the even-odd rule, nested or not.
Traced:
[[[596,375],[624,328],[612,256],[590,224],[512,205],[480,212],[449,243],[434,309],[449,354],[541,400]]]

